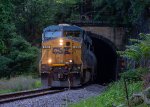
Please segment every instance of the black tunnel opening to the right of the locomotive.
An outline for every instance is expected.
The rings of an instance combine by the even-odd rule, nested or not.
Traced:
[[[97,58],[95,83],[107,84],[116,79],[117,54],[109,41],[92,37],[94,53]]]

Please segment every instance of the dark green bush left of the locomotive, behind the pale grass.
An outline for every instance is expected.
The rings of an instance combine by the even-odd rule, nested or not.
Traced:
[[[11,39],[9,53],[0,56],[0,78],[37,71],[39,50],[20,36]]]

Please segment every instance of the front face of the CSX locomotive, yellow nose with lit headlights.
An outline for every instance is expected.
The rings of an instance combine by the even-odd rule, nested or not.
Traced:
[[[53,25],[44,29],[40,73],[45,86],[80,85],[82,29]]]

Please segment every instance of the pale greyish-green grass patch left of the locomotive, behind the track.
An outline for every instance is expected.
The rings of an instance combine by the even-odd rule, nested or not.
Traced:
[[[30,90],[41,87],[40,79],[31,76],[19,76],[0,80],[0,94]]]

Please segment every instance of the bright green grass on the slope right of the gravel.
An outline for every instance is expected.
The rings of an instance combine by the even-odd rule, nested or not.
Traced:
[[[136,92],[140,92],[143,87],[143,82],[128,83],[128,93],[131,96]],[[123,81],[118,81],[110,84],[105,92],[97,97],[92,97],[83,100],[77,104],[71,104],[70,107],[113,107],[118,106],[126,107],[122,104],[126,103],[126,94]],[[122,106],[121,106],[122,105]],[[139,106],[140,107],[140,106]],[[142,106],[147,107],[147,106]]]

